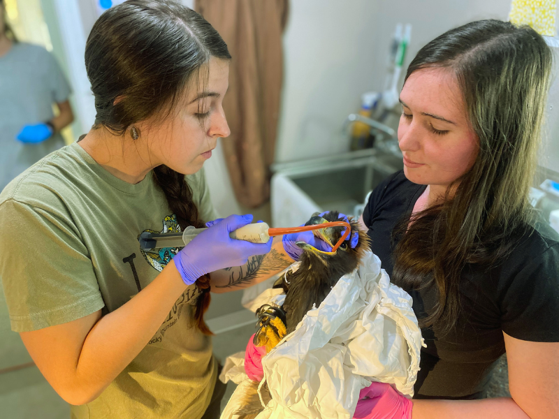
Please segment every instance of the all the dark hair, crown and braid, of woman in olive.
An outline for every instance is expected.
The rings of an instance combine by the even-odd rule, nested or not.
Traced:
[[[203,83],[211,57],[231,59],[226,43],[201,15],[176,1],[128,0],[108,9],[95,22],[85,47],[97,112],[94,128],[128,135],[136,122],[169,116],[189,80]],[[184,175],[158,166],[154,178],[181,228],[203,226]],[[210,304],[209,278],[196,284],[203,291],[196,322],[211,334],[203,321]]]

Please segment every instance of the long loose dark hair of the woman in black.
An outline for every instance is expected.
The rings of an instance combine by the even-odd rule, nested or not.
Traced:
[[[444,203],[414,214],[409,228],[409,219],[395,228],[393,281],[437,291],[423,327],[449,332],[464,268],[500,263],[532,228],[528,191],[551,64],[551,50],[530,27],[481,20],[435,38],[407,69],[406,80],[422,68],[453,71],[479,144],[474,166],[449,187]]]

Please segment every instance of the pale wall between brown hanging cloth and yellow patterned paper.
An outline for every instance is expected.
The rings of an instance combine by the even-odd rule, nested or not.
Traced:
[[[286,77],[277,161],[347,149],[341,126],[364,91],[382,89],[398,22],[411,23],[407,66],[419,48],[472,20],[506,19],[510,0],[296,0],[284,36]],[[341,6],[343,5],[343,6]]]

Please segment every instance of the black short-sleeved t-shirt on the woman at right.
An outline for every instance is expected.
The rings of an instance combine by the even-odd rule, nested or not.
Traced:
[[[372,191],[365,207],[371,250],[389,275],[393,228],[409,217],[425,189],[396,172]],[[413,298],[416,316],[425,317],[435,302],[435,289],[405,291]],[[433,328],[421,331],[427,348],[421,350],[416,398],[483,397],[493,364],[504,353],[502,332],[525,341],[559,341],[559,235],[540,222],[499,266],[481,270],[467,265],[460,302],[460,317],[449,334],[437,337]]]

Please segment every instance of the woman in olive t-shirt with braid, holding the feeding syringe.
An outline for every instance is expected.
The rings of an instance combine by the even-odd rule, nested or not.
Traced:
[[[252,216],[212,221],[201,169],[229,135],[230,58],[217,31],[178,2],[110,8],[85,50],[94,126],[0,194],[11,325],[73,418],[219,417],[208,291],[283,270],[296,241],[329,249],[312,233],[231,240]],[[207,222],[182,249],[138,244],[144,231]]]

